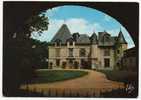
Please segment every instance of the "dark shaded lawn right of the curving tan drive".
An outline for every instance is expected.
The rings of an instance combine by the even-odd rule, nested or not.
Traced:
[[[133,82],[137,80],[137,72],[132,71],[118,71],[118,70],[98,70],[104,73],[109,80],[119,81],[119,82]]]

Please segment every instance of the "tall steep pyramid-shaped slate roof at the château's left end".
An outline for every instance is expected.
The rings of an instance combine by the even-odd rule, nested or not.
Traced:
[[[63,24],[61,28],[58,30],[56,35],[53,37],[51,42],[55,42],[56,39],[60,39],[62,43],[66,43],[66,40],[71,38],[71,33],[66,24]]]

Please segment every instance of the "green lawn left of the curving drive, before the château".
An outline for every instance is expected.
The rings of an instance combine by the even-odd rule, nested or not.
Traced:
[[[40,70],[36,72],[36,77],[32,83],[50,83],[78,78],[87,75],[86,71],[79,70]]]

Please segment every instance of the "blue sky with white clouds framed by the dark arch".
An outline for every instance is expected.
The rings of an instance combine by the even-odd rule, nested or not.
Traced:
[[[67,24],[72,34],[79,32],[79,34],[87,34],[89,36],[94,32],[98,35],[98,32],[103,31],[108,32],[111,36],[118,36],[121,30],[128,43],[128,48],[135,46],[124,26],[116,19],[96,9],[69,5],[49,9],[44,14],[49,19],[48,30],[43,31],[41,36],[36,34],[36,32],[32,33],[31,37],[34,39],[49,42],[62,24]]]

